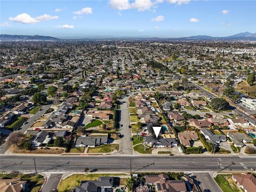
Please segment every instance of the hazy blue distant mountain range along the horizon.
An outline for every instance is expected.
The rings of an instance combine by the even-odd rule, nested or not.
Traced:
[[[197,35],[197,36],[190,36],[190,37],[178,37],[178,38],[159,38],[159,37],[152,37],[152,38],[81,38],[76,40],[86,40],[86,41],[93,41],[93,40],[108,40],[108,41],[117,41],[117,40],[135,40],[135,41],[256,41],[256,33],[244,32],[239,33],[231,36],[226,37],[212,37],[207,35]],[[41,36],[41,35],[0,35],[1,41],[59,41],[61,39],[50,37],[50,36]],[[63,39],[64,40],[64,39]]]

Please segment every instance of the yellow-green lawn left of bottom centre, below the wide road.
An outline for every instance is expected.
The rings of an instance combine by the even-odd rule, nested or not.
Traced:
[[[117,174],[109,174],[109,173],[108,174],[86,174],[86,175],[73,174],[73,175],[70,175],[68,178],[60,181],[58,191],[68,191],[68,190],[74,189],[75,186],[80,185],[81,181],[98,180],[99,177],[107,177],[111,175],[117,175]],[[118,175],[125,175],[125,174],[118,174]]]

